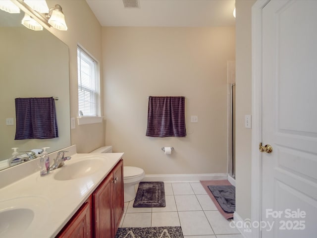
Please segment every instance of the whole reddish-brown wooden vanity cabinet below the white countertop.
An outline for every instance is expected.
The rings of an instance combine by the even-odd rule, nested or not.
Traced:
[[[122,159],[87,201],[58,238],[115,237],[124,211]]]

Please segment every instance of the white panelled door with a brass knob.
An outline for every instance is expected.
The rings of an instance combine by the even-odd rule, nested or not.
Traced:
[[[264,6],[262,57],[262,237],[316,238],[317,0]]]

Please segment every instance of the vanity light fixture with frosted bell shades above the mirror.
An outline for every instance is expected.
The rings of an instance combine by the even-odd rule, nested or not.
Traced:
[[[2,0],[0,0],[0,2],[1,1]],[[11,1],[16,6],[18,6],[18,8],[24,11],[26,15],[30,16],[31,19],[37,21],[39,24],[43,23],[47,27],[53,27],[60,31],[67,31],[65,16],[60,5],[56,4],[54,7],[49,9],[49,7],[47,6],[46,0],[11,0]],[[29,22],[23,23],[23,20],[22,20],[22,24],[26,26],[29,24]],[[38,30],[38,28],[33,29],[34,27],[31,27],[31,28],[28,27],[28,28],[32,30]]]

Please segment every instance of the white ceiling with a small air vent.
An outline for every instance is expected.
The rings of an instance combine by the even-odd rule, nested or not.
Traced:
[[[234,26],[235,0],[86,0],[102,26]],[[139,7],[125,8],[123,1]]]

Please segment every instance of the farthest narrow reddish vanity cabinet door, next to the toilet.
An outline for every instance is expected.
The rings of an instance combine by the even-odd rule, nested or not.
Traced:
[[[120,225],[124,211],[123,199],[123,161],[119,161],[113,170],[113,236]]]

